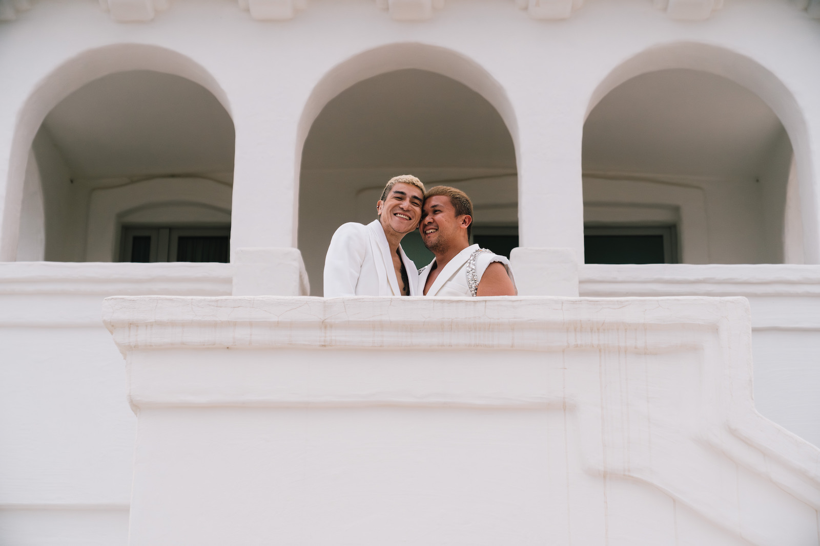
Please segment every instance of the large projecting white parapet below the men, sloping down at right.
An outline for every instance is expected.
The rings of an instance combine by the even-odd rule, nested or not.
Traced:
[[[818,544],[744,298],[116,297],[132,546]]]

